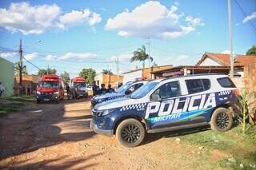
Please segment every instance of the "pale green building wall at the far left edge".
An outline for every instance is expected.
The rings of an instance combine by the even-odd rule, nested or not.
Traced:
[[[0,81],[5,88],[2,97],[14,95],[14,63],[0,57]]]

